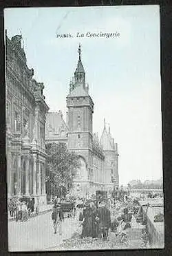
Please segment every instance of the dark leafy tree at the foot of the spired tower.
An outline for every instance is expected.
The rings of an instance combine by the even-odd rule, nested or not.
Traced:
[[[71,189],[76,169],[80,167],[78,156],[67,149],[65,143],[52,143],[46,145],[47,180],[52,186],[63,186]]]

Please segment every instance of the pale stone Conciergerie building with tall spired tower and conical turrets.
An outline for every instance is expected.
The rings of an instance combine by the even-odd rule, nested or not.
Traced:
[[[85,70],[79,58],[74,81],[67,95],[67,121],[61,111],[48,113],[45,129],[46,143],[65,142],[80,158],[80,168],[74,179],[72,193],[89,195],[97,190],[112,191],[118,187],[118,149],[104,127],[100,140],[93,133],[94,103],[85,83]]]

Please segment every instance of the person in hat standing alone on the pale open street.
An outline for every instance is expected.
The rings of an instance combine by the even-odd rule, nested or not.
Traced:
[[[54,226],[54,234],[58,227],[59,235],[62,235],[62,222],[64,221],[63,211],[61,211],[61,204],[56,204],[52,211],[52,221]]]

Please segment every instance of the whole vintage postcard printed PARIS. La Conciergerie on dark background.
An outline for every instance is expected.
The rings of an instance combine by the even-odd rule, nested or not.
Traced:
[[[8,250],[164,248],[159,6],[4,19]]]

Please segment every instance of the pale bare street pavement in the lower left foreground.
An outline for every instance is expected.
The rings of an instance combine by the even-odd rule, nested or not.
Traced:
[[[62,233],[54,234],[52,212],[32,217],[27,222],[8,222],[8,250],[36,251],[58,250],[63,239],[69,239],[74,233],[80,232],[78,220],[65,218],[62,224]]]

